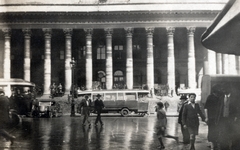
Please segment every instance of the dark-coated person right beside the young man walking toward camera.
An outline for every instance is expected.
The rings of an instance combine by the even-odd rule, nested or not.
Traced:
[[[208,141],[211,143],[212,149],[218,149],[219,143],[219,119],[221,112],[221,91],[220,85],[214,85],[211,88],[211,94],[207,97],[204,109],[206,122],[208,125]]]

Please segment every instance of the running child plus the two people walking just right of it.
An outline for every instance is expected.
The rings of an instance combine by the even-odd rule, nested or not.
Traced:
[[[195,150],[195,139],[198,135],[199,119],[198,115],[205,121],[205,116],[202,113],[198,103],[195,103],[196,94],[191,93],[188,95],[189,102],[186,96],[182,96],[182,105],[179,110],[178,122],[181,125],[181,131],[183,134],[184,149],[188,148],[190,144],[190,150]],[[158,148],[164,149],[165,146],[162,142],[162,137],[173,138],[178,142],[178,137],[165,134],[167,125],[166,112],[163,110],[164,104],[162,102],[157,103],[157,137],[160,142]]]

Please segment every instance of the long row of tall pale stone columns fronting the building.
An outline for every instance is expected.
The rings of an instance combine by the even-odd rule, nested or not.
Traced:
[[[132,37],[134,35],[133,28],[124,28],[126,33],[126,85],[128,89],[133,88],[133,47]],[[166,27],[168,38],[167,49],[167,83],[170,88],[175,89],[175,57],[174,57],[174,27]],[[3,77],[11,78],[11,29],[2,29],[4,33],[4,64],[3,64]],[[24,79],[31,81],[31,29],[22,29],[24,34]],[[44,94],[50,94],[51,84],[51,35],[52,29],[42,29],[45,40],[45,54],[44,54]],[[93,64],[92,64],[92,34],[94,29],[84,29],[86,38],[86,89],[91,90],[93,79]],[[112,89],[113,87],[113,57],[112,57],[112,34],[113,29],[106,28],[106,88]],[[153,53],[153,34],[154,28],[145,28],[146,31],[146,45],[147,45],[147,60],[146,60],[146,84],[149,89],[154,88],[154,53]],[[188,87],[196,88],[196,60],[195,60],[195,47],[194,47],[194,31],[195,27],[188,27]],[[72,29],[63,29],[65,33],[65,92],[69,93],[71,88],[71,68],[70,61],[72,58]],[[209,59],[208,55],[211,55],[209,50],[205,53],[206,59],[204,59],[204,74],[209,74],[210,71],[216,70],[215,74],[227,74],[229,67],[235,64],[229,64],[229,59],[235,59],[235,56],[228,54],[215,54],[215,58]],[[238,58],[239,60],[240,58]],[[215,69],[209,68],[210,61],[214,61],[214,65],[211,62],[211,66],[215,66]],[[238,61],[239,62],[239,61]],[[228,67],[229,66],[229,67]],[[236,73],[239,71],[236,71]]]

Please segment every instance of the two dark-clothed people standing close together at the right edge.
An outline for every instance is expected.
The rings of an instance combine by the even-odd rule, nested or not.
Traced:
[[[240,89],[235,84],[213,86],[205,104],[208,140],[214,150],[240,149]]]

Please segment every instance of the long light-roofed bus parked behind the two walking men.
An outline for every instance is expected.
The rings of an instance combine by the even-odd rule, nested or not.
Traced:
[[[78,94],[78,99],[81,101],[85,95],[88,95],[94,102],[98,94],[102,96],[101,99],[105,105],[103,113],[120,113],[122,116],[128,116],[131,112],[141,116],[148,113],[148,96],[150,93],[147,90],[83,91]],[[79,105],[77,110],[78,113],[81,112]]]

